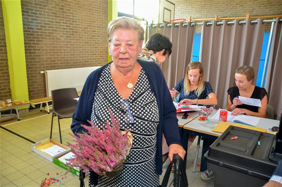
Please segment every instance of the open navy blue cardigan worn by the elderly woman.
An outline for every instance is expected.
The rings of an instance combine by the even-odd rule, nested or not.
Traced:
[[[156,149],[156,173],[162,173],[162,133],[165,136],[167,145],[181,144],[176,109],[172,103],[169,90],[159,66],[155,63],[146,62],[138,59],[139,64],[144,70],[156,101],[159,111],[159,125],[157,127],[157,149]],[[112,63],[112,62],[110,62]],[[93,71],[83,86],[82,93],[76,106],[76,110],[72,116],[71,130],[74,134],[85,132],[81,124],[88,124],[86,120],[91,120],[91,113],[94,101],[94,95],[103,69]]]

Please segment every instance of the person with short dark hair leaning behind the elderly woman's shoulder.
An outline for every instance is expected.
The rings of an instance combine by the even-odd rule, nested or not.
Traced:
[[[171,47],[168,37],[155,33],[149,38],[138,58],[160,64],[171,54]]]

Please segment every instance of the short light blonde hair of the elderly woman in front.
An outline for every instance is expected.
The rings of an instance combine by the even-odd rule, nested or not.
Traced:
[[[125,28],[125,29],[134,29],[137,32],[138,40],[141,42],[144,40],[144,29],[141,27],[140,23],[137,22],[134,18],[121,16],[113,19],[108,24],[108,40],[111,41],[111,37],[115,29]]]

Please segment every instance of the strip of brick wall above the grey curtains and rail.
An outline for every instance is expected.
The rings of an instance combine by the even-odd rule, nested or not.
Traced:
[[[282,0],[171,0],[175,3],[175,18],[244,17],[282,14]],[[266,23],[269,31],[271,23]],[[201,26],[195,27],[201,32]]]

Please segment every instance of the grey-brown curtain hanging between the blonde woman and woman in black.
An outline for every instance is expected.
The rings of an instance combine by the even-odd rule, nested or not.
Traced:
[[[242,65],[252,66],[258,72],[264,24],[262,19],[251,24],[217,24],[203,22],[199,61],[204,68],[204,80],[209,81],[218,98],[216,108],[225,108],[228,88],[235,86],[235,70]],[[256,84],[257,75],[254,79]]]

